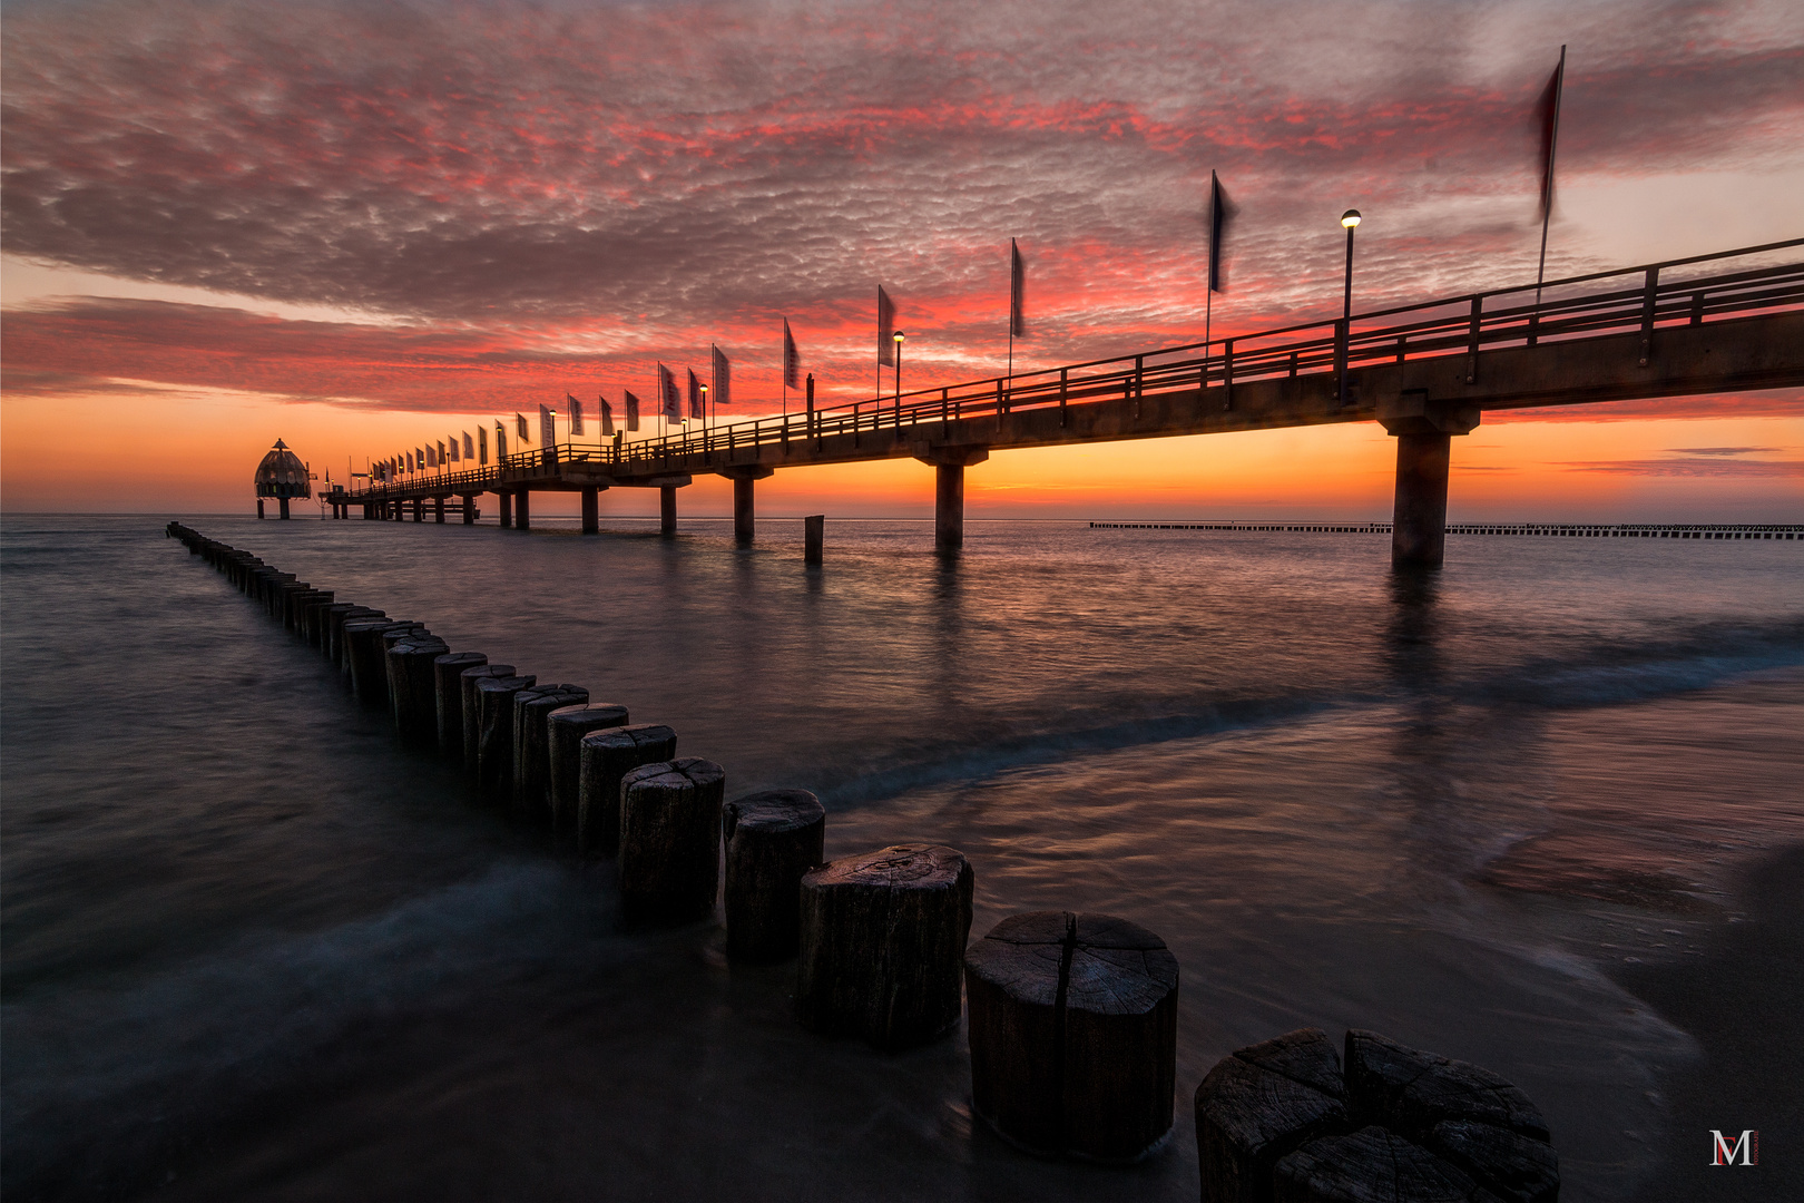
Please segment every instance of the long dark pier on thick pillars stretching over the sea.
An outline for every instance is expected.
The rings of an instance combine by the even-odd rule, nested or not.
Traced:
[[[530,527],[532,492],[579,492],[599,530],[603,489],[658,489],[662,530],[696,474],[734,482],[734,534],[750,543],[754,482],[778,469],[915,458],[936,473],[934,543],[963,543],[965,469],[990,451],[1128,438],[1380,422],[1396,436],[1396,565],[1443,559],[1450,444],[1486,409],[1804,386],[1804,263],[1721,271],[1804,238],[1546,285],[1261,330],[934,386],[787,417],[613,445],[557,444],[500,465],[419,473],[332,494],[334,512],[446,521],[496,492],[503,527]],[[1719,269],[1716,274],[1683,274]],[[1342,377],[1346,388],[1342,390]]]

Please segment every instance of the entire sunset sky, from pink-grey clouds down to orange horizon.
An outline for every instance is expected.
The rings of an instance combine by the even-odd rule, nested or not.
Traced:
[[[1550,278],[1804,234],[1795,0],[9,0],[0,43],[13,512],[244,510],[278,436],[343,480],[711,344],[734,411],[776,413],[785,317],[823,404],[855,400],[877,285],[906,386],[996,375],[1010,238],[1017,368],[1189,343],[1212,170],[1218,335],[1333,316],[1346,207],[1357,308],[1532,281],[1562,43]],[[1393,456],[1373,424],[999,453],[967,514],[1387,518]],[[915,462],[758,487],[933,507]],[[1449,505],[1800,521],[1804,391],[1492,415]]]

